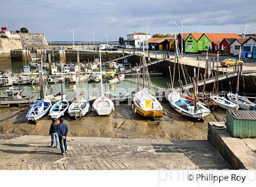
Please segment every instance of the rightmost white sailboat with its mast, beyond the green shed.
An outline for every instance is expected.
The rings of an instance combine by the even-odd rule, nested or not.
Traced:
[[[241,47],[240,47],[240,52],[239,52],[239,62],[240,62],[240,59],[241,59]],[[238,92],[239,92],[239,79],[240,79],[240,73],[241,72],[242,72],[242,64],[239,64],[238,65],[238,73],[237,73],[236,93],[233,94],[232,92],[229,92],[227,94],[227,97],[233,103],[238,104],[240,109],[243,109],[243,110],[256,110],[256,104],[255,103],[252,103],[247,97],[238,95]]]

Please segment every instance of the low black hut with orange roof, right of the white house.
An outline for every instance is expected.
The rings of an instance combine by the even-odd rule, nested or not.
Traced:
[[[148,45],[150,50],[166,50],[170,49],[170,37],[168,38],[159,38],[159,37],[153,37],[148,39]]]

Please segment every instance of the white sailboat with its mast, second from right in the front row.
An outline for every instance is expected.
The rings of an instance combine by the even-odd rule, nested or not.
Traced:
[[[214,102],[216,102],[219,107],[227,110],[238,110],[239,106],[238,104],[235,104],[228,99],[224,97],[220,97],[218,95],[219,93],[219,52],[217,53],[217,75],[216,75],[216,83],[217,83],[217,88],[216,88],[216,95],[211,95],[211,99],[213,99]]]

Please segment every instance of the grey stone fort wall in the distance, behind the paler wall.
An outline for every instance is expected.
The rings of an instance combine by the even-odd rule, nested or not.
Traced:
[[[23,47],[44,47],[48,46],[45,35],[40,33],[21,33],[21,43]]]

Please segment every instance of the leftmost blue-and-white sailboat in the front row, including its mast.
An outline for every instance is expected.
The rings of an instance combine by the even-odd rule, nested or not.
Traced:
[[[41,60],[41,64],[39,65],[39,76],[40,76],[40,96],[41,100],[39,100],[35,104],[31,104],[31,109],[28,110],[26,118],[29,121],[36,121],[37,119],[42,118],[45,114],[47,114],[52,106],[52,103],[49,99],[45,99],[43,92],[43,56]]]

